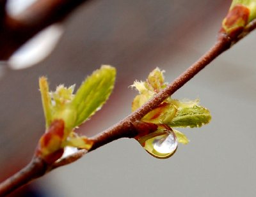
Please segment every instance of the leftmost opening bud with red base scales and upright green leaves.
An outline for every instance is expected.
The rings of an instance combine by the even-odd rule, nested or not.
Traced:
[[[45,115],[45,134],[38,142],[36,155],[47,163],[59,159],[65,147],[89,150],[93,142],[86,136],[78,136],[77,126],[88,120],[106,102],[115,83],[115,68],[102,66],[81,84],[76,94],[75,85],[59,85],[49,92],[47,78],[39,80]]]

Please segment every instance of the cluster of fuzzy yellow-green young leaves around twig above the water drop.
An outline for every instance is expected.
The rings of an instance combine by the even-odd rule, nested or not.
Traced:
[[[153,98],[158,92],[167,86],[164,83],[163,71],[159,68],[154,69],[145,82],[134,82],[132,87],[135,87],[140,94],[138,94],[132,102],[132,111],[137,110],[147,101]],[[147,113],[141,121],[156,124],[158,127],[163,125],[168,128],[195,128],[201,127],[209,123],[211,114],[207,108],[199,105],[198,99],[194,101],[179,101],[177,99],[167,98],[161,105],[154,108],[151,112]],[[188,138],[175,129],[172,129],[177,136],[180,143],[188,143]],[[152,131],[144,132],[144,135],[152,133]],[[141,135],[140,135],[141,137]]]

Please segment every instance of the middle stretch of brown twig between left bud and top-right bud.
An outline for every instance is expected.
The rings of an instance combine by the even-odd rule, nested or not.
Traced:
[[[191,78],[193,78],[200,70],[202,70],[207,64],[209,64],[213,59],[218,57],[223,51],[230,47],[230,40],[227,36],[220,36],[219,40],[216,42],[214,47],[212,47],[205,55],[203,55],[198,61],[196,61],[191,67],[189,67],[182,75],[177,77],[172,84],[168,85],[163,91],[159,92],[150,99],[145,105],[141,106],[138,110],[131,113],[124,120],[120,121],[118,124],[106,131],[100,133],[97,136],[91,138],[93,140],[93,147],[91,150],[97,149],[102,145],[116,140],[116,138],[122,137],[134,137],[136,133],[131,133],[133,131],[132,122],[135,120],[140,120],[148,112],[159,106],[164,99],[170,97],[175,91],[177,91],[182,85],[186,84]]]

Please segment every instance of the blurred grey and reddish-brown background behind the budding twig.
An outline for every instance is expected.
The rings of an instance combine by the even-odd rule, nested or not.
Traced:
[[[134,80],[145,80],[158,66],[172,82],[204,54],[216,41],[230,3],[90,1],[46,36],[55,38],[50,43],[56,47],[48,46],[50,55],[44,61],[28,67],[36,54],[29,56],[31,62],[10,59],[11,66],[0,69],[0,179],[30,161],[44,133],[38,77],[47,76],[54,90],[58,84],[81,84],[102,64],[115,66],[113,94],[80,129],[95,135],[131,113],[137,92],[129,85]],[[46,37],[41,38],[45,43]],[[200,98],[212,113],[209,125],[180,129],[190,142],[180,144],[174,156],[156,159],[135,140],[124,138],[52,171],[17,196],[254,196],[254,37],[255,32],[220,55],[173,95]]]

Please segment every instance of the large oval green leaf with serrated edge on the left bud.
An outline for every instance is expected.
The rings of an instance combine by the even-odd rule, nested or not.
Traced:
[[[106,102],[113,90],[115,75],[115,68],[102,66],[86,78],[71,103],[77,111],[74,127],[92,116]]]

